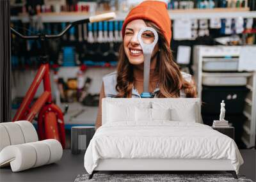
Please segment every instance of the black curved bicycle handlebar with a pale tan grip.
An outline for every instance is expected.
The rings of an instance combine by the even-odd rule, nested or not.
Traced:
[[[115,19],[115,17],[116,17],[116,14],[114,12],[111,12],[111,13],[103,13],[100,15],[94,15],[94,16],[89,17],[88,19],[77,20],[75,22],[71,22],[70,24],[68,24],[68,26],[65,27],[65,29],[63,29],[63,31],[61,31],[61,33],[59,33],[59,34],[39,34],[39,35],[26,36],[24,34],[17,32],[15,29],[13,29],[13,27],[11,27],[11,31],[13,34],[19,36],[20,38],[29,39],[29,40],[40,39],[40,38],[42,38],[42,36],[47,39],[60,38],[72,26],[76,26],[78,24],[89,23],[89,22],[93,23],[93,22],[111,20],[111,19]]]

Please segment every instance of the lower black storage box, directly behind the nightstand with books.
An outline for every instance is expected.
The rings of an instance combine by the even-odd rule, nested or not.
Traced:
[[[202,114],[202,118],[205,125],[212,126],[213,120],[220,119],[220,114]],[[235,128],[235,141],[239,149],[246,148],[241,140],[241,137],[243,135],[243,125],[246,119],[246,116],[244,116],[243,114],[225,116],[225,120],[227,120],[228,123],[232,123],[232,126],[234,126]]]

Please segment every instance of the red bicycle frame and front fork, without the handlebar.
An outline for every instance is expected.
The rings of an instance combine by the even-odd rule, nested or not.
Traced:
[[[29,108],[40,83],[44,80],[44,93]],[[65,125],[61,109],[52,103],[49,63],[42,63],[35,79],[26,93],[13,121],[32,121],[38,114],[38,135],[40,140],[56,139],[65,148]]]

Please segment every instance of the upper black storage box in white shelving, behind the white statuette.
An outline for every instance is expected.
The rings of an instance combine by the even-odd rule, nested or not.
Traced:
[[[250,89],[239,87],[203,86],[202,113],[220,114],[221,100],[225,100],[226,114],[242,114],[244,99]]]

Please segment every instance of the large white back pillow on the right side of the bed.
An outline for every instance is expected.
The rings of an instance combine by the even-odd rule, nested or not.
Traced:
[[[196,123],[196,105],[190,104],[185,108],[172,108],[171,110],[171,120],[172,121],[184,121],[184,122],[194,122]]]

